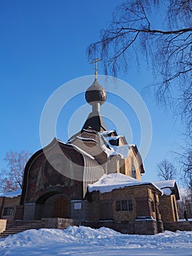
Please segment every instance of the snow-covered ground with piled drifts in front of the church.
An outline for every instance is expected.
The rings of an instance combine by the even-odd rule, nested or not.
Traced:
[[[192,255],[192,232],[123,235],[101,227],[26,230],[0,238],[0,255]]]

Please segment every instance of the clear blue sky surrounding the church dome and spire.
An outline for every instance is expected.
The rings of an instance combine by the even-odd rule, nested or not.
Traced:
[[[99,39],[99,31],[105,28],[119,3],[118,0],[0,1],[1,169],[7,151],[25,149],[34,153],[41,148],[39,120],[53,91],[69,80],[93,75],[86,49]],[[138,73],[137,66],[133,66],[131,72],[120,74],[119,78],[141,94],[151,82],[151,72],[145,67],[143,63]],[[102,73],[99,63],[99,74]],[[157,107],[152,94],[142,94],[142,97],[153,125],[143,178],[152,181],[157,179],[157,163],[164,158],[172,161],[170,152],[180,149],[182,126],[174,121],[171,112]],[[123,104],[121,110],[126,112]],[[84,121],[82,118],[82,124]],[[137,131],[138,122],[129,122],[132,131]],[[59,125],[62,127],[62,118]],[[77,127],[77,131],[81,128]],[[58,129],[58,138],[67,140],[65,124],[64,129]],[[139,140],[134,135],[133,143],[138,144]]]

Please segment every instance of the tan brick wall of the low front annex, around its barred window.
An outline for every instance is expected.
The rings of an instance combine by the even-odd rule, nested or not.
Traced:
[[[154,193],[154,192],[153,192]],[[137,217],[153,217],[156,219],[155,198],[158,202],[158,195],[151,192],[149,186],[126,187],[114,189],[112,192],[99,193],[92,192],[91,218],[93,222],[104,219],[113,219],[115,222],[131,221]],[[131,200],[132,211],[116,211],[117,200]],[[158,213],[157,213],[158,214]],[[161,217],[158,216],[158,220]]]

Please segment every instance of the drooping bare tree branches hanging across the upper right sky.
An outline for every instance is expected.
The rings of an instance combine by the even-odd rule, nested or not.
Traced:
[[[100,56],[105,72],[115,76],[145,58],[153,69],[157,99],[174,103],[191,134],[191,51],[191,0],[127,0],[116,7],[100,40],[88,47],[88,56]]]

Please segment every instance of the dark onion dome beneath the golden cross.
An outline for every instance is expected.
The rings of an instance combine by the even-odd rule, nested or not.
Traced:
[[[94,102],[98,102],[100,105],[104,104],[107,99],[107,92],[100,86],[97,79],[94,80],[92,86],[85,92],[85,99],[90,105],[93,105]]]

